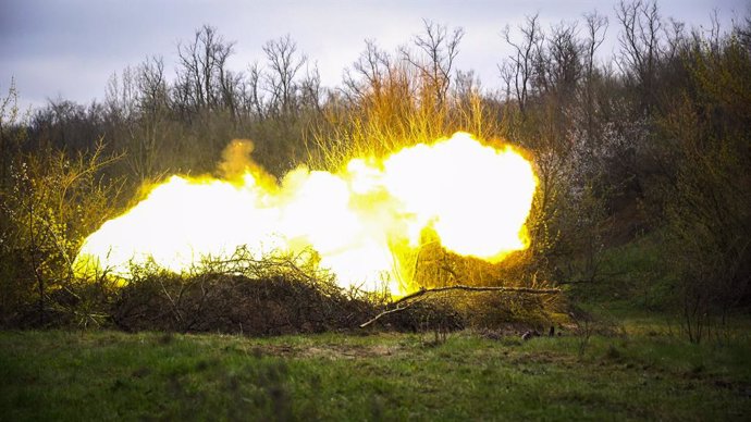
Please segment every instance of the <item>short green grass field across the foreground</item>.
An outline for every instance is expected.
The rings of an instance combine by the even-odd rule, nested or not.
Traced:
[[[743,420],[748,339],[0,333],[0,420]]]

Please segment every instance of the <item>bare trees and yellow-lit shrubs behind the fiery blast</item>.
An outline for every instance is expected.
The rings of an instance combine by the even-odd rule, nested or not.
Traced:
[[[507,26],[513,53],[496,90],[456,67],[464,30],[430,21],[396,51],[366,41],[335,88],[288,36],[230,71],[241,47],[211,26],[178,45],[174,78],[147,58],[113,75],[101,102],[56,100],[25,115],[11,86],[0,110],[0,314],[53,301],[85,235],[146,183],[214,171],[231,139],[253,139],[254,158],[279,176],[456,131],[534,159],[532,247],[508,264],[514,277],[600,283],[605,248],[652,235],[674,275],[660,306],[700,324],[748,306],[751,18],[700,30],[656,2],[615,9],[615,22],[588,13],[543,27],[532,15]],[[610,32],[619,48],[603,62]]]

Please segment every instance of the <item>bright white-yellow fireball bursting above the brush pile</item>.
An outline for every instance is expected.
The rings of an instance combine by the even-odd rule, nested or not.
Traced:
[[[510,147],[494,149],[457,133],[383,160],[355,159],[338,173],[300,166],[281,185],[237,159],[233,141],[224,178],[172,176],[83,244],[75,266],[128,276],[153,260],[183,272],[202,258],[245,247],[261,259],[313,249],[342,286],[406,293],[398,248],[420,247],[423,229],[457,255],[497,262],[528,247],[525,222],[537,177]]]

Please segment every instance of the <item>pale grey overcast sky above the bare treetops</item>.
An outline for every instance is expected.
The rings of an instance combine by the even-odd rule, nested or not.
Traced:
[[[113,72],[148,55],[164,58],[174,74],[176,46],[204,24],[235,41],[230,66],[262,60],[261,46],[286,34],[318,64],[323,84],[336,86],[343,70],[374,39],[386,51],[409,42],[432,20],[460,26],[458,67],[475,70],[485,88],[500,86],[496,64],[507,54],[501,30],[540,13],[543,27],[580,18],[595,9],[610,16],[610,57],[619,30],[615,1],[208,1],[208,0],[0,0],[0,95],[15,78],[22,104],[64,98],[87,103],[103,99]],[[662,15],[689,26],[710,24],[714,9],[728,28],[744,16],[749,0],[662,0]]]

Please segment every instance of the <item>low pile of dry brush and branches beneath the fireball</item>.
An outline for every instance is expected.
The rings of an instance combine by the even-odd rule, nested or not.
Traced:
[[[557,289],[454,285],[394,298],[344,289],[313,263],[288,257],[206,261],[185,274],[133,268],[53,291],[7,321],[16,327],[98,326],[126,332],[232,333],[251,336],[393,330],[447,333],[509,323],[546,326],[563,309]]]

